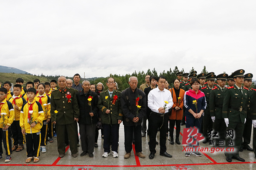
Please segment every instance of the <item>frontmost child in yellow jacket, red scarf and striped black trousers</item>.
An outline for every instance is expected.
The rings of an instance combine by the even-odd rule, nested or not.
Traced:
[[[41,104],[35,101],[35,88],[29,88],[27,96],[28,102],[23,105],[20,111],[20,127],[22,133],[26,136],[26,152],[28,157],[26,163],[29,163],[32,159],[34,159],[34,162],[39,161],[44,111]]]

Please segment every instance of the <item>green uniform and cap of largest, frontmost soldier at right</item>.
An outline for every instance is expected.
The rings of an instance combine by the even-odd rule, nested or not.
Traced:
[[[232,74],[232,76],[234,78],[244,77],[244,70],[237,70]],[[247,117],[247,94],[247,89],[245,89],[243,86],[241,86],[241,88],[239,89],[239,87],[237,87],[236,85],[227,88],[227,90],[225,91],[222,116],[223,118],[228,118],[229,120],[227,130],[232,129],[235,133],[235,139],[231,139],[229,137],[226,140],[233,140],[234,147],[237,149],[233,153],[227,152],[227,161],[232,161],[232,157],[241,160],[241,158],[239,157],[239,148],[241,146],[241,139],[244,131],[244,121]],[[229,142],[227,141],[227,144],[228,143]],[[244,161],[244,159],[241,161]]]

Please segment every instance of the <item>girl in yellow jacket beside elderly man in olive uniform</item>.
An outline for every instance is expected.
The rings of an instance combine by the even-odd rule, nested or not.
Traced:
[[[38,94],[35,97],[35,100],[38,101],[43,110],[44,110],[44,121],[43,121],[43,127],[41,128],[41,146],[40,151],[42,150],[42,153],[46,153],[46,144],[47,144],[47,129],[48,129],[48,123],[51,119],[51,103],[50,103],[50,97],[46,95],[45,93],[45,85],[44,83],[38,84]]]

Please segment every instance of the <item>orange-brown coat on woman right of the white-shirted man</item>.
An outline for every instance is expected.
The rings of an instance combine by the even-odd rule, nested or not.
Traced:
[[[173,105],[172,105],[172,114],[169,116],[169,119],[171,120],[182,120],[183,116],[183,101],[184,101],[184,94],[185,91],[180,88],[180,102],[177,101],[177,97],[175,94],[174,88],[171,88],[169,91],[172,93],[172,100],[173,100]],[[175,107],[179,107],[180,110],[175,110]]]

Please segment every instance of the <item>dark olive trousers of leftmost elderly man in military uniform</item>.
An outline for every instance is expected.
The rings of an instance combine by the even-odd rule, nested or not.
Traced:
[[[67,137],[70,141],[70,151],[72,154],[77,153],[77,127],[76,122],[67,125],[55,125],[57,132],[57,143],[58,143],[58,153],[65,153],[65,129],[67,129]]]

